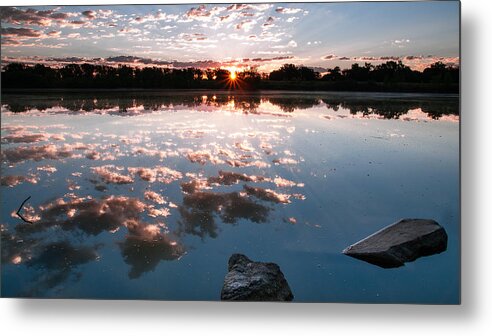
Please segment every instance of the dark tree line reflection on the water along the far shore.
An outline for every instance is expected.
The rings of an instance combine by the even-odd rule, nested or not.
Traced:
[[[385,119],[397,119],[408,111],[421,109],[430,119],[439,119],[447,115],[459,115],[459,104],[456,96],[425,96],[409,95],[405,99],[391,95],[343,96],[334,94],[233,94],[214,93],[186,94],[178,92],[174,95],[151,92],[127,92],[92,94],[51,93],[43,96],[7,94],[3,97],[2,109],[14,113],[29,111],[45,111],[51,113],[103,113],[120,116],[134,116],[160,110],[196,109],[213,111],[228,109],[246,114],[272,114],[275,116],[289,115],[296,110],[326,106],[330,110],[346,109],[350,114],[378,115]],[[267,111],[273,106],[276,111]],[[41,135],[26,135],[26,139],[37,141]],[[5,141],[16,141],[7,138]]]

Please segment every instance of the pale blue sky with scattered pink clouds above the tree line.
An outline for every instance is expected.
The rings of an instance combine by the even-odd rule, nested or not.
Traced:
[[[2,60],[271,71],[459,62],[459,2],[1,8]]]

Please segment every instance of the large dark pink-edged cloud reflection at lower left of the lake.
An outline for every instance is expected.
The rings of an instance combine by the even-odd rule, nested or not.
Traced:
[[[171,239],[164,223],[146,223],[141,219],[144,213],[152,217],[166,210],[125,196],[59,198],[39,206],[34,223],[16,225],[15,235],[1,226],[2,262],[25,263],[42,270],[28,295],[43,294],[77,275],[74,272],[79,265],[99,258],[98,245],[72,246],[65,240],[53,241],[57,235],[65,237],[63,231],[74,231],[97,236],[124,228],[127,234],[117,245],[130,266],[129,277],[138,278],[155,269],[161,260],[176,260],[186,252],[178,241]],[[34,211],[29,209],[33,215]]]

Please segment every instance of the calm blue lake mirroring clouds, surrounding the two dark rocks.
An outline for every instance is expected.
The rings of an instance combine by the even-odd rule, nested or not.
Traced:
[[[3,297],[220,300],[243,253],[294,301],[459,303],[455,95],[24,92],[1,117]],[[447,250],[341,253],[401,218]]]

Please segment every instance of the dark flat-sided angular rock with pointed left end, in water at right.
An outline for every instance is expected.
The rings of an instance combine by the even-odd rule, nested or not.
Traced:
[[[446,251],[448,235],[432,219],[402,219],[347,247],[342,253],[384,268],[400,267]]]

